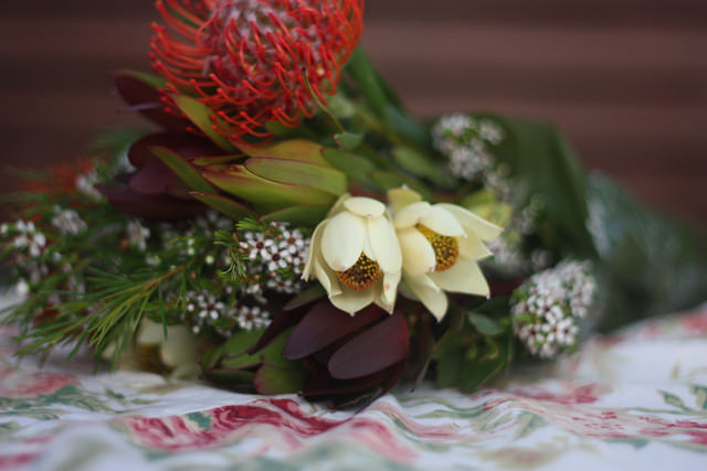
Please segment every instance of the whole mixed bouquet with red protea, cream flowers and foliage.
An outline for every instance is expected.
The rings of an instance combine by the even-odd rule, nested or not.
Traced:
[[[158,0],[146,132],[34,176],[0,228],[20,354],[361,405],[472,390],[707,298],[705,238],[587,178],[549,125],[421,121],[362,0]]]

